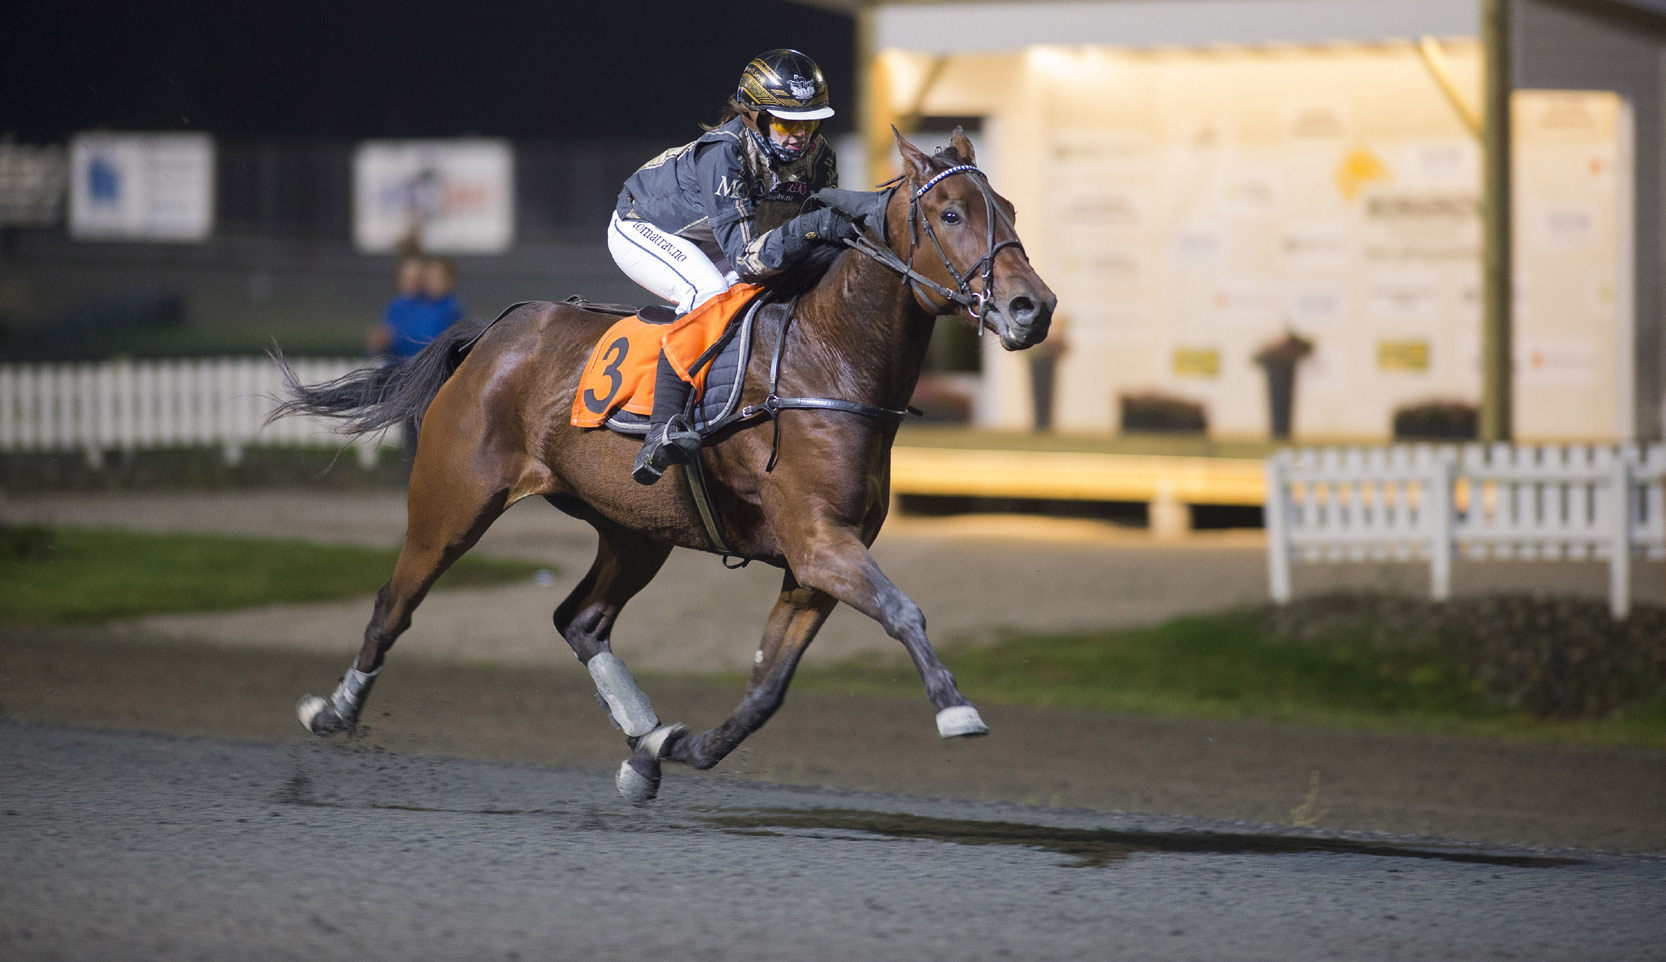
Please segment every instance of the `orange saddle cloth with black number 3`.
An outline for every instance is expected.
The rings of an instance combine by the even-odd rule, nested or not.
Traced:
[[[761,285],[736,283],[673,323],[648,323],[631,315],[610,327],[578,378],[573,425],[603,427],[608,415],[620,408],[653,413],[653,378],[661,348],[678,377],[695,385],[695,397],[700,397],[706,368],[691,370],[695,362],[761,292]]]

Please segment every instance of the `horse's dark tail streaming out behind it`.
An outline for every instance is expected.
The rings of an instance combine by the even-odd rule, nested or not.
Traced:
[[[468,357],[490,320],[460,320],[445,328],[428,347],[398,363],[362,367],[322,383],[302,383],[277,345],[268,352],[283,372],[288,397],[267,417],[267,423],[292,413],[340,418],[340,432],[358,437],[420,418],[440,393],[456,365]]]

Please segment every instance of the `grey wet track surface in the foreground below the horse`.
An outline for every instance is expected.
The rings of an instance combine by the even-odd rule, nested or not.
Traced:
[[[1666,860],[0,722],[3,959],[1661,959]]]

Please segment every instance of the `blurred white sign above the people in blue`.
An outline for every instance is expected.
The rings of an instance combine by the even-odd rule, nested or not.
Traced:
[[[506,140],[367,140],[353,155],[353,242],[387,253],[415,233],[436,253],[496,253],[515,237]]]

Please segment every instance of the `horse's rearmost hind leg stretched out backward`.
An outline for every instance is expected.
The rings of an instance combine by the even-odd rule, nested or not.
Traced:
[[[470,477],[460,460],[418,457],[407,499],[405,547],[393,577],[377,592],[365,640],[328,699],[302,695],[295,714],[315,735],[350,732],[382,670],[388,649],[412,624],[433,582],[475,547],[508,507],[508,485]],[[478,465],[476,465],[478,467]]]

